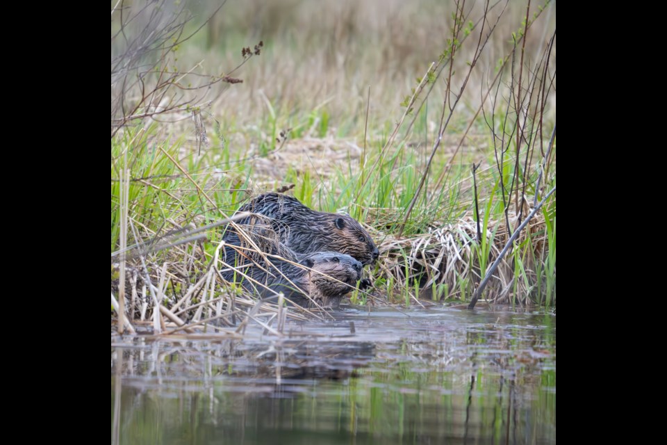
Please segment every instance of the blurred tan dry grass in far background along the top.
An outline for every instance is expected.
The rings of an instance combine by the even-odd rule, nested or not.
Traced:
[[[503,6],[497,3],[490,19]],[[210,6],[193,4],[200,18],[192,26],[215,7],[213,2]],[[479,17],[481,7],[481,2],[468,1],[466,15]],[[369,129],[378,134],[400,117],[399,104],[415,87],[415,78],[423,76],[446,47],[452,13],[453,2],[436,0],[229,1],[207,24],[206,33],[195,35],[179,50],[177,65],[182,71],[196,66],[204,73],[229,72],[242,60],[242,47],[262,40],[261,56],[235,73],[243,83],[220,83],[209,95],[215,99],[206,113],[222,122],[226,136],[235,129],[251,129],[272,113],[279,128],[300,128],[307,125],[305,118],[310,113],[322,111],[329,116],[331,131],[360,136],[369,86]],[[481,89],[493,76],[498,60],[511,51],[511,35],[520,28],[523,15],[524,3],[507,4],[495,31],[497,37],[479,60],[484,69],[472,75],[462,99],[462,120],[479,106]],[[526,49],[531,60],[539,57],[555,19],[552,5],[535,24],[532,32],[536,37],[527,42]],[[476,38],[473,32],[470,39]],[[461,73],[455,79],[463,75],[471,56],[464,47],[454,63],[454,71]],[[435,106],[444,90],[441,81],[434,87]]]

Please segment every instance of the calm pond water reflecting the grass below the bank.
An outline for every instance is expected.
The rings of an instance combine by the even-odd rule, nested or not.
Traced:
[[[331,314],[281,338],[112,336],[112,443],[556,443],[555,315]]]

